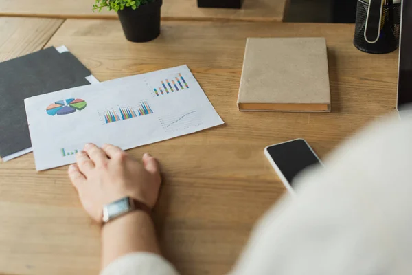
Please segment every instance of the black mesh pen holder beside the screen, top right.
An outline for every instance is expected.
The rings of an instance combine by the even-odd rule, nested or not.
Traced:
[[[399,47],[400,0],[358,0],[354,45],[370,54]]]

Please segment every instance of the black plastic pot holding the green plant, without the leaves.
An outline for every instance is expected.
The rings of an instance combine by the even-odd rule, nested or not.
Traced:
[[[155,0],[155,2],[141,5],[136,10],[124,8],[117,12],[128,41],[147,42],[159,36],[162,3],[162,0]]]

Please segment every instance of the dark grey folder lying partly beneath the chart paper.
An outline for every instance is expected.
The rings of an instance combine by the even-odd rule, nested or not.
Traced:
[[[0,63],[0,156],[32,146],[25,98],[88,85],[90,75],[73,54],[54,47]]]

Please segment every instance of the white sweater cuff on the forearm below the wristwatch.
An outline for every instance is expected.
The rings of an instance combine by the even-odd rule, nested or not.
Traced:
[[[157,254],[139,252],[124,255],[110,263],[100,275],[179,275]]]

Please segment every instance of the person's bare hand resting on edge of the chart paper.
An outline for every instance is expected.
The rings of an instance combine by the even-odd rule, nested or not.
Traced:
[[[86,144],[76,154],[77,164],[69,166],[69,178],[78,191],[84,210],[98,223],[102,222],[103,206],[132,197],[153,208],[159,196],[161,176],[157,159],[143,156],[137,162],[119,147]]]

